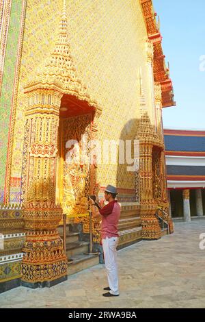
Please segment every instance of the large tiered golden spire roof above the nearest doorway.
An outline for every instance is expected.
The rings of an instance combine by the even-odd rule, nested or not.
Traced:
[[[80,100],[87,101],[90,106],[99,108],[98,103],[87,92],[77,75],[68,39],[68,15],[66,0],[62,1],[61,17],[57,30],[55,46],[49,58],[46,59],[40,70],[25,86],[25,92],[49,88],[60,91],[62,94],[74,95]]]

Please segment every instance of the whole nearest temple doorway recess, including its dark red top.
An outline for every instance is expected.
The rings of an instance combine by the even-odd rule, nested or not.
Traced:
[[[87,102],[64,95],[59,114],[56,198],[67,223],[83,222],[92,190],[90,140],[94,110]]]

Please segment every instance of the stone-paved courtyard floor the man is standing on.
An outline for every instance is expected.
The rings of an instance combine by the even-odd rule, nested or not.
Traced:
[[[175,223],[173,235],[118,252],[120,297],[102,297],[104,265],[68,277],[53,288],[16,288],[0,308],[205,308],[205,220]]]

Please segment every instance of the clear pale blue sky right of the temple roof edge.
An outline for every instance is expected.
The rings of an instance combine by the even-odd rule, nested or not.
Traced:
[[[164,128],[205,129],[205,1],[153,0],[176,107],[163,109]],[[200,64],[202,69],[200,71]]]

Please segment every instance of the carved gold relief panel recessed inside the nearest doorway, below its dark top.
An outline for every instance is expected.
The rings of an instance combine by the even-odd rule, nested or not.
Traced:
[[[68,219],[77,218],[87,214],[87,195],[91,189],[91,114],[62,119],[60,123],[59,199]]]

